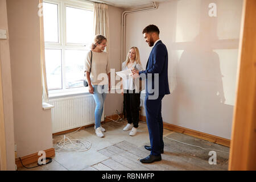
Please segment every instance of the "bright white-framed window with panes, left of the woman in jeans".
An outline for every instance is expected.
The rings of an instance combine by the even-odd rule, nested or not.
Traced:
[[[43,2],[46,76],[49,93],[84,90],[85,54],[93,41],[93,4]]]

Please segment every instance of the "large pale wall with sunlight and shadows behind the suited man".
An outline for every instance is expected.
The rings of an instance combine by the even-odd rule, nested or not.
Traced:
[[[167,46],[172,93],[163,98],[164,122],[230,139],[242,2],[173,0],[127,15],[125,52],[137,46],[144,68],[151,51],[144,27],[158,26]],[[210,3],[217,17],[208,15]]]

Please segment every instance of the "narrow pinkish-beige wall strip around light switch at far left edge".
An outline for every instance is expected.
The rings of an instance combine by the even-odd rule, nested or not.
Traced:
[[[7,170],[15,170],[13,90],[11,86],[11,60],[6,0],[0,0],[0,29],[7,31],[7,39],[0,39],[0,64],[2,73],[2,88],[0,89],[2,89],[3,93]]]

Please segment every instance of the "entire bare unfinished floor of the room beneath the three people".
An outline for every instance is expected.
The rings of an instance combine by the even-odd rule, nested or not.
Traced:
[[[229,147],[166,129],[164,129],[164,154],[162,154],[162,160],[151,164],[142,164],[139,159],[150,154],[150,151],[144,149],[144,145],[150,145],[147,124],[139,122],[137,135],[131,137],[129,135],[130,131],[122,130],[126,123],[114,121],[104,123],[102,125],[106,129],[104,138],[98,138],[93,127],[87,127],[69,135],[69,138],[89,140],[92,143],[91,148],[84,152],[59,150],[56,142],[61,138],[53,137],[53,147],[55,147],[56,152],[52,163],[32,169],[22,167],[18,171],[228,170]],[[203,150],[195,146],[210,148],[210,150]],[[212,156],[212,154],[209,155],[210,151],[216,152],[217,164],[209,164],[209,158]],[[214,160],[211,159],[210,162],[214,162]],[[36,166],[36,163],[27,167],[32,166]]]

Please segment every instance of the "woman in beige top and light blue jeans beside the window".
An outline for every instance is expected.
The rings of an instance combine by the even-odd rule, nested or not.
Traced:
[[[96,35],[92,44],[92,50],[88,52],[85,59],[85,75],[88,81],[88,89],[96,102],[95,115],[95,133],[98,137],[104,137],[102,132],[106,130],[101,127],[101,116],[103,112],[104,101],[106,98],[106,89],[110,90],[110,68],[108,53],[104,52],[106,47],[106,38],[103,35]],[[90,59],[92,56],[92,65]],[[108,79],[98,80],[102,73],[108,75]],[[101,77],[101,76],[100,76]]]

